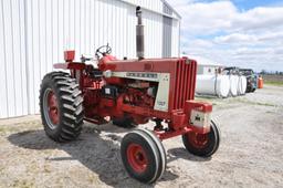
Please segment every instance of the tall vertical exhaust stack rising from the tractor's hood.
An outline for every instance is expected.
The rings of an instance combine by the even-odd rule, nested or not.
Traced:
[[[137,58],[143,60],[145,58],[145,39],[144,39],[144,25],[142,20],[142,10],[140,7],[136,8],[137,25],[136,25],[136,48],[137,48]]]

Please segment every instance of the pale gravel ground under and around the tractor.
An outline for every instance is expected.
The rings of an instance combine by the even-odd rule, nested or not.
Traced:
[[[219,150],[200,158],[180,137],[165,140],[167,169],[151,186],[123,168],[119,142],[127,129],[85,124],[78,140],[57,144],[39,116],[0,121],[0,187],[282,187],[283,87],[206,100],[221,129]]]

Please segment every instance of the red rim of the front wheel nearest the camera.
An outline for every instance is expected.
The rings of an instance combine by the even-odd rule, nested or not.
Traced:
[[[127,159],[130,167],[137,173],[144,173],[147,168],[148,159],[140,145],[130,144],[127,148]]]

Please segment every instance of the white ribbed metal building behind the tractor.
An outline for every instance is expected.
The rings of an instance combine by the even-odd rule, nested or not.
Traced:
[[[41,79],[63,51],[136,56],[136,6],[143,10],[145,56],[178,56],[180,17],[164,0],[0,0],[0,118],[39,112]]]

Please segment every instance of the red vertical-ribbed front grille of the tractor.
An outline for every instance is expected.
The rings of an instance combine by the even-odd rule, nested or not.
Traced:
[[[184,108],[185,102],[195,98],[197,62],[180,59],[175,65],[174,109]]]

